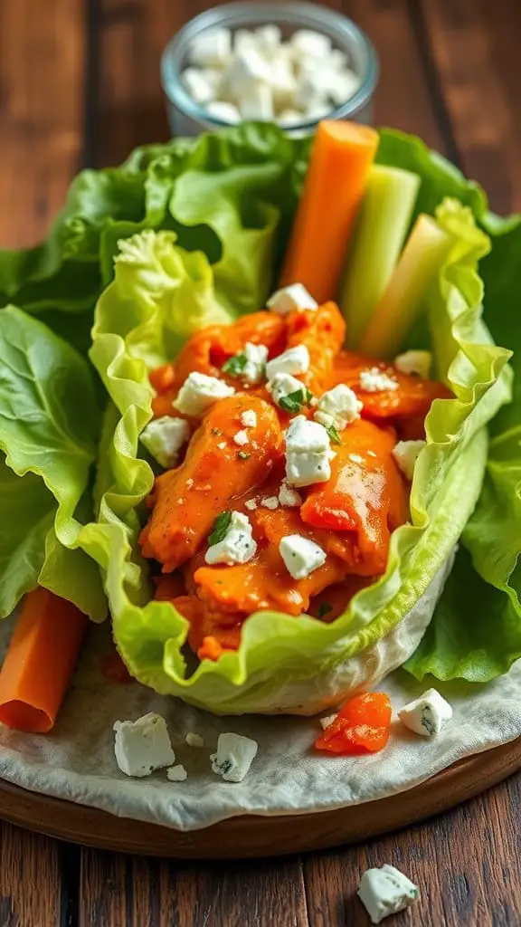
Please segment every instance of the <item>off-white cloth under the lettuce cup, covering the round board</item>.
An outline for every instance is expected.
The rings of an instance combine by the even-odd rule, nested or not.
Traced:
[[[11,633],[0,625],[0,659]],[[138,684],[109,682],[101,660],[108,627],[93,628],[67,700],[50,734],[23,734],[0,725],[0,777],[35,792],[95,806],[125,818],[193,831],[245,813],[280,815],[359,804],[403,792],[463,756],[521,736],[521,661],[511,672],[478,686],[415,682],[399,670],[377,687],[397,712],[430,685],[451,702],[452,720],[432,741],[393,724],[388,748],[375,756],[322,756],[311,749],[317,718],[212,717]],[[113,724],[148,711],[167,718],[176,762],[188,771],[171,782],[164,770],[129,779],[116,766]],[[219,733],[232,730],[259,742],[247,778],[223,782],[210,770]],[[204,749],[184,743],[196,731]]]

